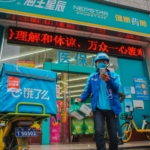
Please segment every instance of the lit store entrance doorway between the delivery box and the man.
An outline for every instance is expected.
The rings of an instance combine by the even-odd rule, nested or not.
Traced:
[[[57,104],[58,119],[60,119],[60,141],[62,143],[72,142],[92,142],[94,135],[94,126],[92,113],[82,120],[70,116],[69,109],[74,105],[75,98],[79,97],[85,87],[89,74],[79,74],[70,72],[58,72],[57,82]],[[87,99],[84,104],[91,107],[91,98]],[[51,128],[51,130],[53,130]],[[51,142],[55,135],[50,135]],[[56,140],[56,139],[55,139]]]

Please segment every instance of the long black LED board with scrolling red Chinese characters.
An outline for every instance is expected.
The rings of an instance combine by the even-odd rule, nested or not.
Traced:
[[[105,52],[115,56],[143,58],[143,50],[140,46],[16,27],[10,27],[8,31],[8,43],[69,49],[87,53]]]

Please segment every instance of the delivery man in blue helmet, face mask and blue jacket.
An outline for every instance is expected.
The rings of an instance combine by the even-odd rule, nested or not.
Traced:
[[[106,118],[110,137],[109,150],[118,150],[117,114],[121,112],[119,102],[119,75],[110,72],[109,57],[98,53],[95,57],[96,71],[89,75],[84,92],[77,98],[78,102],[85,101],[92,94],[92,111],[97,150],[106,150],[104,140],[104,120]],[[103,68],[103,69],[102,69]]]

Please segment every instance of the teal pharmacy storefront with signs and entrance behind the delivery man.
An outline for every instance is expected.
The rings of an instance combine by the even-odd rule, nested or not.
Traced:
[[[43,122],[42,144],[93,141],[92,114],[77,121],[68,115],[68,109],[82,93],[87,76],[95,71],[94,56],[98,52],[110,55],[110,70],[120,75],[121,91],[127,95],[122,103],[123,112],[127,111],[126,105],[142,106],[134,113],[137,127],[141,127],[141,115],[150,114],[145,60],[150,36],[148,14],[89,1],[79,3],[79,0],[57,1],[53,5],[25,0],[17,5],[10,3],[8,8],[0,1],[1,65],[13,63],[58,72],[56,94],[60,123],[53,127],[53,118]],[[26,11],[29,7],[33,8],[31,12]],[[51,16],[45,15],[47,10]],[[36,18],[15,15],[18,12]],[[60,18],[63,22],[59,22]],[[90,98],[86,104],[90,106]]]

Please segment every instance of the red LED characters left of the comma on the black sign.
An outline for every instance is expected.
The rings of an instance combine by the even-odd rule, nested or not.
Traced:
[[[38,44],[53,44],[55,46],[77,47],[77,40],[74,37],[63,35],[53,35],[47,33],[40,33],[36,31],[24,30],[9,30],[9,40],[18,40],[28,43]]]

